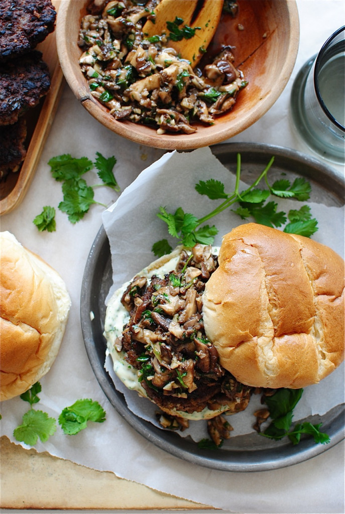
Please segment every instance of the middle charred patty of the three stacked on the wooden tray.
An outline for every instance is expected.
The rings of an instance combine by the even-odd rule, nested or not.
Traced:
[[[0,64],[0,125],[15,123],[28,107],[39,103],[49,87],[48,66],[38,50]]]

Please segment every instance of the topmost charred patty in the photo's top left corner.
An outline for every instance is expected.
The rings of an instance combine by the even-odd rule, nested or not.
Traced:
[[[55,20],[50,0],[1,0],[0,61],[29,52],[54,30]]]

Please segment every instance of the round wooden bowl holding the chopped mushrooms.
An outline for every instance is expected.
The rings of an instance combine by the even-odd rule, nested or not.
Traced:
[[[296,61],[299,19],[295,0],[239,0],[235,18],[222,15],[208,52],[214,54],[222,45],[235,47],[234,64],[243,71],[248,85],[240,91],[233,109],[217,117],[213,125],[198,124],[197,131],[189,135],[158,135],[155,128],[115,120],[90,94],[78,63],[78,34],[86,4],[84,0],[64,0],[59,10],[57,46],[65,78],[81,104],[100,123],[116,134],[154,148],[195,149],[244,131],[279,98]]]

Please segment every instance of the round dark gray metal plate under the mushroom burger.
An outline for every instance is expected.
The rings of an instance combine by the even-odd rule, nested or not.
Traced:
[[[257,177],[269,158],[275,156],[270,177],[281,178],[286,173],[289,180],[304,176],[312,183],[312,201],[321,201],[329,206],[344,204],[344,178],[335,170],[309,156],[278,146],[262,144],[229,143],[211,148],[216,157],[230,172],[235,171],[237,153],[241,153],[243,180]],[[134,415],[127,407],[124,397],[114,386],[104,369],[106,341],[103,337],[105,298],[112,285],[110,246],[103,227],[100,228],[86,262],[81,291],[81,324],[88,358],[96,378],[114,408],[137,432],[159,448],[193,464],[224,471],[263,471],[297,464],[333,447],[344,438],[345,414],[339,406],[324,416],[308,418],[312,423],[322,422],[322,431],[328,433],[328,445],[316,445],[312,438],[302,439],[293,446],[281,440],[271,441],[255,434],[238,436],[226,440],[219,451],[201,450],[189,438],[176,432],[160,430],[151,423]],[[89,313],[95,319],[91,322]]]

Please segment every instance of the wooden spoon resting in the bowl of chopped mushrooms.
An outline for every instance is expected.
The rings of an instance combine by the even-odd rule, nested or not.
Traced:
[[[169,46],[194,67],[213,38],[222,14],[223,2],[224,0],[161,0],[154,10],[155,23],[148,20],[143,26],[143,34],[150,37],[166,33],[169,36],[171,30],[168,29],[167,22],[175,22],[177,31],[184,32],[185,26],[195,30],[189,39],[169,39]]]

